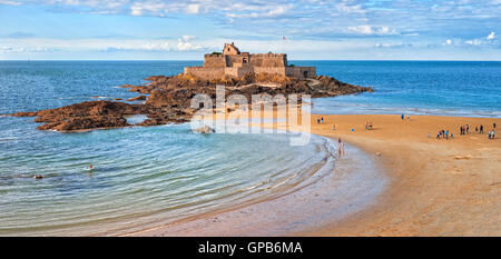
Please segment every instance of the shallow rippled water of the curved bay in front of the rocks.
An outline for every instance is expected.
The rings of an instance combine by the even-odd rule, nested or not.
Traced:
[[[321,138],[289,147],[287,135],[198,135],[188,124],[29,131],[0,137],[0,235],[112,235],[265,199],[327,153]]]

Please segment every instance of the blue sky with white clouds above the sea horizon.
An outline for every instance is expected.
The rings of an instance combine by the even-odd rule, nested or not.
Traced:
[[[0,0],[0,59],[501,60],[501,0]],[[283,40],[286,37],[286,40]]]

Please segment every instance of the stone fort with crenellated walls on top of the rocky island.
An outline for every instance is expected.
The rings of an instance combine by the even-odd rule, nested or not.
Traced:
[[[186,74],[203,79],[220,79],[224,76],[242,77],[245,73],[278,73],[296,78],[311,78],[316,74],[315,67],[287,64],[287,54],[240,52],[234,42],[225,43],[223,53],[204,56],[203,67],[185,67]]]

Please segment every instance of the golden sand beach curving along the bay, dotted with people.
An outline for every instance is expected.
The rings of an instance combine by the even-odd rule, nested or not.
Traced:
[[[320,118],[324,119],[323,123],[317,123]],[[367,121],[373,124],[372,130],[364,128]],[[402,120],[397,114],[312,114],[312,133],[334,141],[341,138],[360,148],[377,161],[389,181],[376,197],[376,203],[278,236],[499,236],[501,175],[497,166],[501,162],[501,143],[499,138],[491,140],[485,133],[474,132],[480,124],[487,132],[493,122],[499,124],[501,120],[436,116],[412,116]],[[470,132],[460,136],[456,131],[465,124],[470,126]],[[286,128],[281,122],[265,127]],[[442,129],[453,132],[454,137],[436,139],[436,131]],[[218,218],[217,215],[210,217]],[[204,221],[208,226],[225,226],[208,219]],[[196,232],[170,232],[166,226],[136,235],[243,235],[232,232],[230,223],[226,223],[228,231],[214,231],[213,228],[213,231],[204,232],[205,227],[202,226],[206,225],[197,225]],[[254,228],[263,229],[263,226]]]

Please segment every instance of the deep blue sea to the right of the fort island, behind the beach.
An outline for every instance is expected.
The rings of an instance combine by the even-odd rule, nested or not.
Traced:
[[[313,113],[501,118],[501,62],[302,61],[374,92],[314,100]]]

